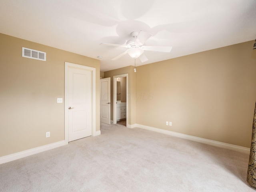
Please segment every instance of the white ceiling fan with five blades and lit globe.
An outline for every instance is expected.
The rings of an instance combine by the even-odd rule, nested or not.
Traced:
[[[145,46],[144,43],[146,42],[146,40],[148,40],[148,38],[152,36],[147,32],[140,31],[140,33],[138,33],[134,31],[131,33],[131,35],[132,38],[127,40],[125,45],[101,43],[102,45],[128,48],[125,52],[116,56],[112,60],[117,60],[118,58],[128,53],[132,58],[139,58],[141,62],[145,62],[148,60],[148,58],[143,54],[144,50],[158,52],[170,52],[172,50],[171,46]]]

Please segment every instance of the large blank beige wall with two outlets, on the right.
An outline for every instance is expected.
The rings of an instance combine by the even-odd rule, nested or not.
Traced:
[[[138,66],[136,123],[250,147],[256,101],[253,43]]]

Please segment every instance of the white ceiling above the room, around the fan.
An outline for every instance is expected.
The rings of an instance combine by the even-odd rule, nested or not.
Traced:
[[[126,54],[111,60],[126,48],[100,43],[125,44],[140,30],[152,34],[145,45],[172,46],[172,51],[145,51],[149,60],[136,60],[138,66],[254,40],[256,0],[0,1],[0,33],[102,56],[101,71],[134,65],[134,59]]]

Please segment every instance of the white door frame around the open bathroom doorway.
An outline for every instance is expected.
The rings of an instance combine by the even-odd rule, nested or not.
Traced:
[[[126,127],[129,122],[129,79],[128,73],[113,76],[113,124],[116,124],[116,79],[118,77],[126,77]]]

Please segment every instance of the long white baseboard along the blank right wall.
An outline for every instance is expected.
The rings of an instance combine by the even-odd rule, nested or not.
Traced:
[[[155,131],[158,133],[163,133],[163,134],[167,134],[167,135],[171,135],[171,136],[175,136],[175,137],[179,137],[179,138],[183,138],[183,139],[187,139],[187,140],[192,140],[192,141],[196,141],[196,142],[200,142],[200,143],[204,143],[204,144],[208,144],[208,145],[212,145],[212,146],[216,146],[216,147],[221,147],[221,148],[225,148],[225,149],[230,149],[230,150],[250,154],[250,148],[246,148],[246,147],[242,147],[242,146],[238,146],[238,145],[232,145],[232,144],[218,142],[218,141],[214,141],[214,140],[210,140],[210,139],[204,139],[204,138],[200,138],[200,137],[195,137],[195,136],[186,135],[186,134],[177,133],[177,132],[168,131],[168,130],[159,129],[159,128],[154,128],[154,127],[141,125],[141,124],[133,124],[133,125],[131,125],[130,128],[135,128],[135,127],[146,129],[146,130],[151,130],[151,131]]]

